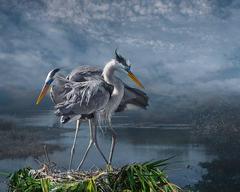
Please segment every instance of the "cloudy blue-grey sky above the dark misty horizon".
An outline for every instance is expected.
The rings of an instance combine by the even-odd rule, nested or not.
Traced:
[[[149,93],[240,93],[239,9],[238,0],[0,0],[0,99],[38,92],[54,67],[103,67],[116,47]]]

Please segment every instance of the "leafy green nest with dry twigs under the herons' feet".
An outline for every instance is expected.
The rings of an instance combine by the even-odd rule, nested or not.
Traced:
[[[119,169],[90,172],[57,172],[45,165],[40,170],[21,169],[10,176],[10,191],[69,192],[178,192],[163,168],[166,160],[134,163]]]

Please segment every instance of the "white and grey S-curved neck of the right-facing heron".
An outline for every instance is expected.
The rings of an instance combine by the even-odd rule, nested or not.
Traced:
[[[102,74],[104,80],[107,83],[113,85],[113,87],[114,87],[111,98],[106,107],[106,110],[109,113],[114,112],[118,108],[118,106],[122,100],[123,94],[124,94],[124,85],[123,85],[122,81],[119,78],[117,78],[116,76],[114,76],[114,72],[116,70],[115,62],[116,61],[114,59],[111,60],[110,62],[108,62],[105,65],[105,67],[103,69],[103,74]]]

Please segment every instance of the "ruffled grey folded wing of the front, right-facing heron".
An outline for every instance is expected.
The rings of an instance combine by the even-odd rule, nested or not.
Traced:
[[[55,105],[59,116],[89,115],[102,110],[111,93],[105,88],[101,79],[83,82],[69,81],[65,88],[69,91],[64,95],[63,102]]]

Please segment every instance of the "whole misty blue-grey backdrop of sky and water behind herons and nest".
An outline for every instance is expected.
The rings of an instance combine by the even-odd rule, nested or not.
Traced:
[[[68,166],[75,125],[59,125],[50,98],[36,106],[37,96],[53,68],[103,68],[118,48],[149,106],[113,117],[114,165],[175,156],[168,173],[181,187],[240,191],[239,31],[238,0],[0,0],[0,172],[39,168],[44,145]],[[110,135],[99,141],[107,154]],[[94,151],[84,168],[93,165],[104,166]]]

